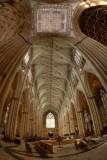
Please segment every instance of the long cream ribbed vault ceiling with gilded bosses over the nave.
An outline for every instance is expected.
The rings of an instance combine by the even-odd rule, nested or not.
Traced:
[[[32,72],[42,108],[60,109],[67,95],[73,47],[57,38],[32,47]]]

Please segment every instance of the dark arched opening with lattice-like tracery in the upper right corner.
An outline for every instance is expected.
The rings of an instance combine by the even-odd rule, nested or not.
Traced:
[[[107,45],[107,6],[86,9],[80,19],[80,28],[84,34]]]

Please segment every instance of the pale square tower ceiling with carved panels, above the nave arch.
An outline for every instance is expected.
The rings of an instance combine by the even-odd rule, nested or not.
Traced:
[[[33,35],[41,33],[70,34],[72,30],[71,4],[42,4],[32,1],[31,5],[33,14]]]

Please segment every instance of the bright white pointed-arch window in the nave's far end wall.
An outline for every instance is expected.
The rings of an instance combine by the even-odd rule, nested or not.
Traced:
[[[55,117],[51,112],[46,116],[46,128],[55,128]]]

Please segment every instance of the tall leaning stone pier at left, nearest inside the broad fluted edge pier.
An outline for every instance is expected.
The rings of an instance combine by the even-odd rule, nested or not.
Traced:
[[[14,97],[12,97],[12,102],[9,110],[7,127],[6,127],[6,136],[14,139],[16,135],[16,125],[18,118],[18,110],[19,110],[19,101],[20,101],[20,93],[23,85],[22,80],[22,72],[17,73],[16,75],[16,86],[14,91]]]

